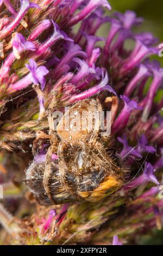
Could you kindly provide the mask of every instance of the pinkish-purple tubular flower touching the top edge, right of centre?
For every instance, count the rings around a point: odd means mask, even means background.
[[[79,21],[85,19],[87,16],[89,16],[92,13],[92,11],[94,11],[100,6],[103,6],[111,10],[110,4],[108,3],[107,0],[90,0],[90,2],[86,5],[86,7],[84,7],[82,11],[80,11],[80,13],[72,17],[72,19],[70,20],[70,25],[73,26]]]

